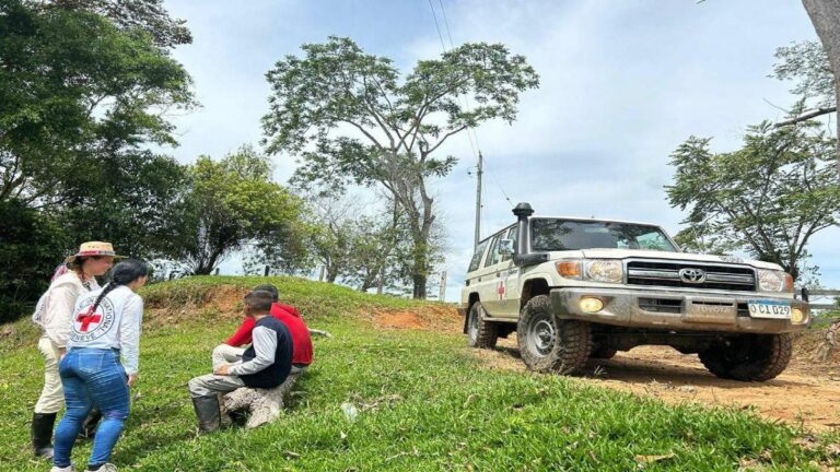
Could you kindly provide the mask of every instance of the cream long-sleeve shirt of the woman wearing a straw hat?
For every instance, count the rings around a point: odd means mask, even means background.
[[[95,279],[82,283],[75,272],[68,272],[49,285],[49,294],[44,310],[44,334],[58,347],[67,346],[70,334],[70,320],[73,318],[75,300],[80,295],[100,288]],[[90,288],[89,288],[90,287]]]

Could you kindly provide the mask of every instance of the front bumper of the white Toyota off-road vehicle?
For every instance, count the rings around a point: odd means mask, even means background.
[[[585,312],[580,308],[582,297],[599,298],[604,308],[596,312]],[[805,312],[805,322],[794,324],[789,319],[752,318],[746,309],[747,302],[757,298],[790,303],[792,308],[800,308]],[[810,323],[810,310],[805,302],[748,293],[552,288],[551,307],[561,318],[677,331],[783,333],[801,331]]]

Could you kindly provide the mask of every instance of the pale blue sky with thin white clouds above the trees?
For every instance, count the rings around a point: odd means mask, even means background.
[[[540,87],[522,96],[518,119],[476,130],[485,156],[482,237],[511,224],[512,204],[537,214],[656,223],[676,234],[669,154],[690,135],[711,137],[715,152],[739,146],[747,126],[778,120],[793,103],[790,83],[767,75],[777,47],[817,38],[798,1],[743,0],[170,0],[194,43],[174,57],[195,80],[201,108],[174,119],[188,163],[258,145],[268,109],[265,73],[305,43],[348,36],[401,71],[455,45],[502,43],[524,55]],[[442,11],[443,10],[443,11]],[[446,299],[457,300],[472,251],[476,158],[466,134],[441,149],[459,158],[435,180],[448,252]],[[276,155],[276,179],[294,157]],[[509,202],[510,199],[510,202]],[[813,237],[820,281],[840,287],[840,228]],[[222,273],[241,273],[231,258]]]

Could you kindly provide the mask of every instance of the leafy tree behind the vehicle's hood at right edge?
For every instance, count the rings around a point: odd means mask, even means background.
[[[711,252],[746,250],[801,274],[807,244],[840,219],[835,139],[817,123],[751,127],[742,149],[712,153],[691,137],[672,154],[672,205],[688,210],[678,240]]]

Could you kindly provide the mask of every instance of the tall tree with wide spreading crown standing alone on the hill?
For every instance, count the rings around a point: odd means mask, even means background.
[[[302,49],[267,74],[268,150],[300,157],[298,180],[384,188],[408,216],[413,296],[424,298],[436,217],[429,180],[456,164],[439,150],[485,121],[512,122],[520,94],[536,87],[538,76],[524,57],[483,43],[421,60],[405,76],[390,59],[365,54],[348,38]]]

